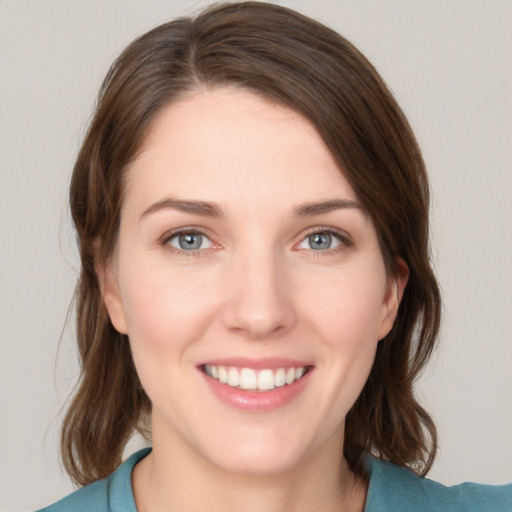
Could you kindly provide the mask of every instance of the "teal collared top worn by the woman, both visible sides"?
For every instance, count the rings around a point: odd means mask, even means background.
[[[132,469],[150,448],[132,455],[108,478],[78,489],[39,512],[137,512]],[[364,512],[512,512],[512,483],[464,483],[445,487],[403,468],[368,456],[370,486]]]

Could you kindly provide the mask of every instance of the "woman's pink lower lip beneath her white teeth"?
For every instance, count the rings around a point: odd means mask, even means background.
[[[202,371],[201,373],[217,398],[230,407],[246,412],[271,412],[285,406],[296,398],[307,386],[313,370],[310,369],[293,384],[287,384],[270,391],[250,391],[233,388],[209,377]]]

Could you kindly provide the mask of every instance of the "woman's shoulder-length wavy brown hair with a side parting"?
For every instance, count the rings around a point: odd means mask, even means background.
[[[354,46],[316,21],[260,2],[216,6],[151,30],[125,49],[101,87],[70,189],[82,262],[76,291],[82,372],[62,430],[66,470],[80,484],[112,472],[151,411],[95,271],[116,241],[124,170],[162,106],[198,86],[223,84],[308,118],[370,215],[388,273],[399,271],[398,257],[408,265],[395,325],[346,418],[344,453],[359,474],[365,452],[426,473],[436,430],[413,384],[433,350],[441,303],[420,150],[385,83]]]

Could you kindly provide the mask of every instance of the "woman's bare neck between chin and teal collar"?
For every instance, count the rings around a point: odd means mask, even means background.
[[[348,468],[339,437],[288,470],[240,474],[155,434],[152,453],[132,476],[139,512],[363,511],[367,485]]]

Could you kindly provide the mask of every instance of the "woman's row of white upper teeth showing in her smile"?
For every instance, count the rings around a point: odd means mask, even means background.
[[[293,384],[306,373],[305,366],[298,368],[264,369],[259,372],[252,368],[235,368],[226,366],[204,365],[206,375],[223,384],[251,391],[270,391]]]

